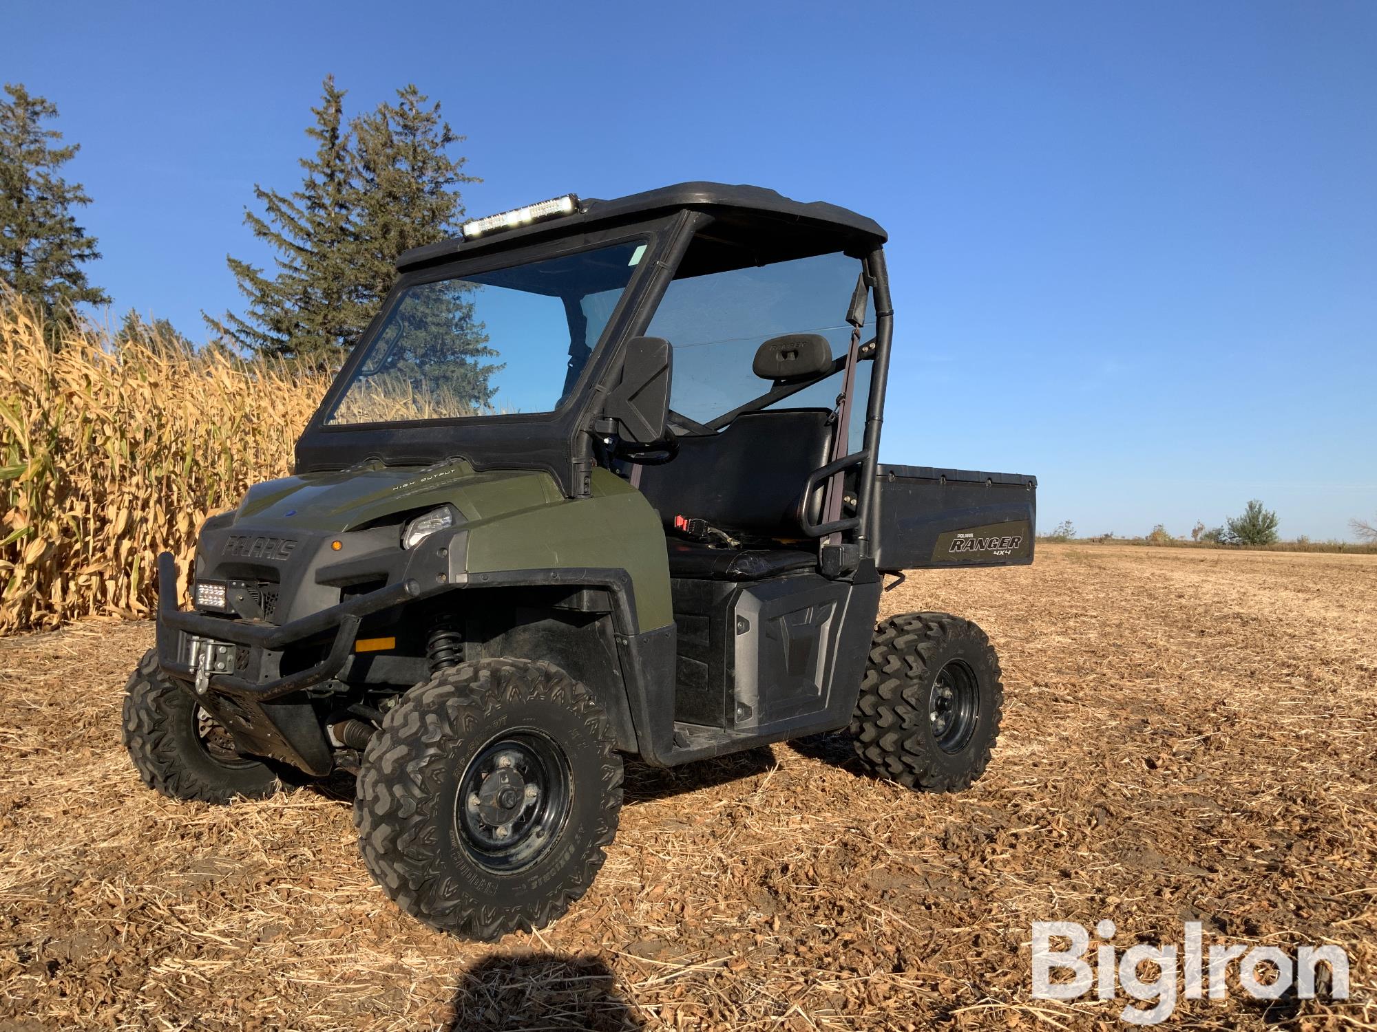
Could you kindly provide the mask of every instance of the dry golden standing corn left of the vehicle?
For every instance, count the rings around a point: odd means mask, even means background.
[[[288,472],[326,385],[91,326],[48,341],[30,304],[0,296],[0,634],[149,615],[164,549],[185,599],[197,528]]]

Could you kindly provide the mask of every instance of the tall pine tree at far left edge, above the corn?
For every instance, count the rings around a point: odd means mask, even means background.
[[[80,183],[58,171],[80,144],[56,146],[62,133],[43,122],[56,105],[22,84],[6,84],[0,100],[0,279],[65,323],[76,304],[109,304],[81,264],[101,257],[96,238],[77,226],[73,208],[91,204]]]

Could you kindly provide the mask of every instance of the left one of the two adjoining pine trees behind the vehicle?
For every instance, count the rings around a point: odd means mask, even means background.
[[[291,195],[255,184],[263,215],[245,209],[253,235],[275,252],[269,274],[241,259],[227,264],[248,299],[245,315],[205,315],[222,340],[241,348],[300,359],[314,367],[337,366],[362,333],[376,305],[357,283],[355,215],[359,206],[344,91],[335,77],[322,83],[315,122],[306,135],[315,154],[300,160],[306,172]],[[204,315],[204,314],[202,314]]]

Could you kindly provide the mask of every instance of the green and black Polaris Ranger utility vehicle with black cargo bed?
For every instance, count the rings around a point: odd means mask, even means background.
[[[684,183],[545,201],[409,250],[296,444],[158,559],[124,740],[185,799],[357,772],[364,860],[494,938],[589,886],[622,757],[848,728],[913,788],[978,777],[974,623],[876,626],[887,575],[1033,560],[1031,476],[877,461],[885,233]],[[291,773],[288,773],[291,772]]]

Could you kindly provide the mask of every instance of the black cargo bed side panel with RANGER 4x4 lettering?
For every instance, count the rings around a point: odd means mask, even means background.
[[[877,568],[1033,561],[1037,477],[895,465],[880,465],[876,472]]]

